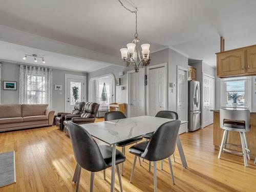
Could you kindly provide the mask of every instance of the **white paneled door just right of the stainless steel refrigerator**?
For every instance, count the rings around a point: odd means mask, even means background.
[[[215,108],[215,78],[203,75],[203,127],[214,123],[214,114],[210,109]]]

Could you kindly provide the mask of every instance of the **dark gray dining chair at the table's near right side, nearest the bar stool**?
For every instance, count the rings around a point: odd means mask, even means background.
[[[154,191],[157,191],[157,161],[168,158],[170,174],[172,182],[174,182],[174,174],[172,168],[172,161],[170,156],[174,154],[176,147],[176,140],[180,129],[180,120],[169,121],[158,127],[157,131],[152,135],[148,141],[140,142],[129,148],[129,152],[134,156],[133,169],[130,182],[133,180],[134,169],[137,157],[141,157],[148,161],[154,162]]]

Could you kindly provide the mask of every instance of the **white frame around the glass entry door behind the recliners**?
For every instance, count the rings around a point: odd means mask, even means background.
[[[87,100],[87,76],[82,76],[82,75],[72,75],[72,74],[65,74],[65,89],[64,89],[64,102],[65,102],[65,112],[68,112],[68,103],[67,103],[67,91],[68,91],[68,79],[81,79],[84,80],[84,85],[83,85],[83,95],[84,95],[84,99],[83,101]]]

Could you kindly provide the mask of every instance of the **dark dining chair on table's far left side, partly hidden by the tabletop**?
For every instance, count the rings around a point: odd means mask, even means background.
[[[125,119],[125,118],[126,118],[126,116],[120,111],[107,112],[107,113],[105,113],[105,116],[104,116],[105,121]],[[138,141],[141,141],[141,140],[142,140],[142,137],[136,137],[136,138],[133,138],[133,139],[129,139],[129,140],[117,143],[116,146],[122,147],[122,153],[123,153],[123,155],[125,155],[125,146],[137,143]],[[139,162],[140,162],[140,159],[139,159]],[[140,165],[141,165],[141,162],[140,162]],[[123,166],[124,165],[122,163],[121,175],[123,175]]]

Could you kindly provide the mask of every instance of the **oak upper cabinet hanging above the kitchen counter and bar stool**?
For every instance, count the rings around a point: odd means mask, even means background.
[[[256,75],[256,45],[217,53],[217,76]]]

